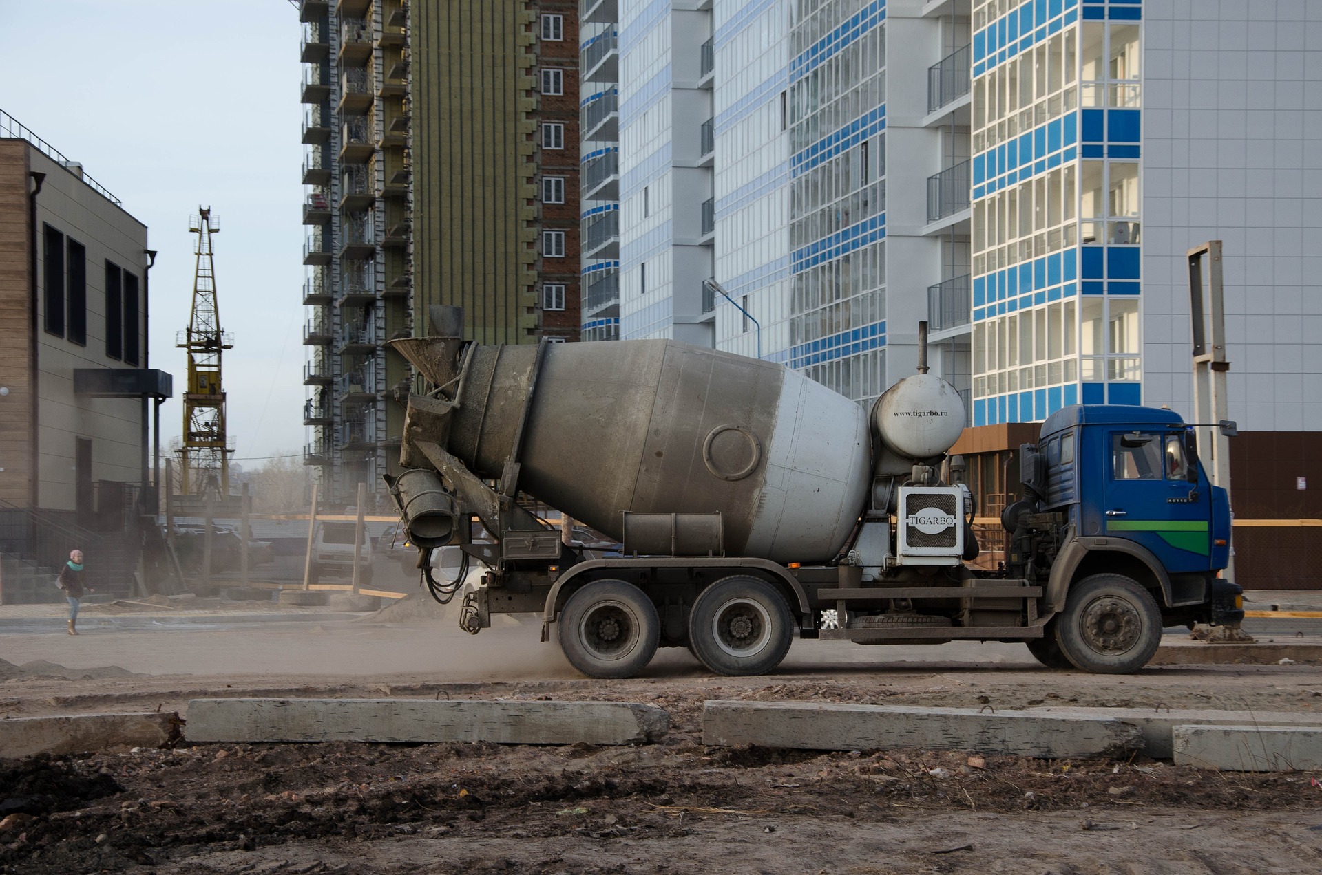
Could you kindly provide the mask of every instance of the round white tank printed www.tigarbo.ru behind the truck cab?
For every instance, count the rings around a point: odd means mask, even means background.
[[[912,374],[886,390],[873,406],[873,427],[899,455],[925,460],[954,445],[964,431],[964,399],[933,374]]]

